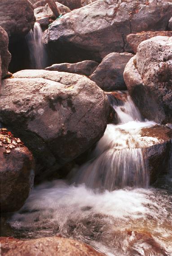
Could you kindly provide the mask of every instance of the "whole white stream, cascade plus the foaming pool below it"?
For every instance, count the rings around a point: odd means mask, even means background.
[[[108,95],[119,124],[107,126],[66,180],[33,189],[8,221],[14,236],[70,237],[107,256],[172,255],[172,172],[149,186],[139,133],[155,123],[142,121],[128,93],[120,95]]]

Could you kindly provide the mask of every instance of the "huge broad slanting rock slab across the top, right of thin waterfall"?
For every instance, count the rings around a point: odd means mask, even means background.
[[[168,0],[97,0],[55,21],[44,40],[52,63],[100,62],[110,52],[127,51],[130,33],[165,30],[171,13]]]

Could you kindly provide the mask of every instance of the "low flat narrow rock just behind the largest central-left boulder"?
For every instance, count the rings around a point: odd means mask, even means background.
[[[91,74],[93,74],[97,66],[98,63],[96,61],[81,61],[73,64],[53,64],[52,66],[45,68],[45,70],[69,72],[74,74],[84,74],[86,76],[90,76]]]

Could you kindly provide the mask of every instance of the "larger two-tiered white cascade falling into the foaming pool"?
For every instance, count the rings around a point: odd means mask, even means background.
[[[142,155],[143,143],[137,137],[150,122],[141,122],[128,92],[116,91],[107,96],[120,124],[107,125],[90,160],[79,168],[72,182],[109,191],[126,186],[147,187],[149,177]]]

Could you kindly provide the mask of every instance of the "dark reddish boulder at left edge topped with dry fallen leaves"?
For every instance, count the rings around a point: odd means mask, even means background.
[[[34,180],[31,152],[6,129],[0,129],[0,211],[12,212],[24,205]]]

